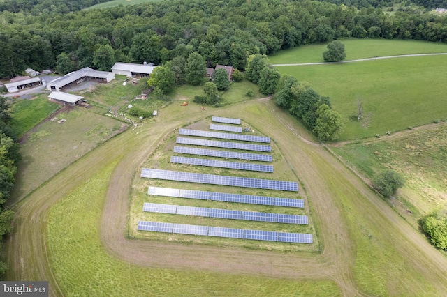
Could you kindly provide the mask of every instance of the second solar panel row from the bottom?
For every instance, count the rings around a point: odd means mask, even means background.
[[[235,211],[219,208],[176,206],[170,204],[145,203],[142,211],[149,213],[171,213],[197,217],[248,220],[258,222],[280,222],[284,224],[308,224],[307,215],[286,215],[284,213],[259,213],[257,211]]]

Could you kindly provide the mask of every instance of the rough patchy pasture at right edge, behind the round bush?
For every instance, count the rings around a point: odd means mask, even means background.
[[[371,178],[374,172],[391,168],[405,178],[390,204],[417,228],[417,220],[447,200],[447,124],[431,124],[332,148],[360,174]]]

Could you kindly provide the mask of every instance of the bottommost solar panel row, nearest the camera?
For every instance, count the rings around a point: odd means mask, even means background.
[[[193,224],[171,224],[163,222],[138,221],[137,230],[175,234],[244,238],[256,241],[280,241],[284,243],[313,243],[312,234],[287,233],[249,229],[207,227]]]

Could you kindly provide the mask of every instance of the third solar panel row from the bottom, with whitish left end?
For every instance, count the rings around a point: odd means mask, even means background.
[[[299,207],[299,208],[305,207],[305,202],[302,199],[240,195],[240,194],[207,192],[197,190],[179,190],[172,188],[149,187],[149,190],[147,190],[147,194],[156,196],[165,196],[165,197],[203,199],[203,200],[226,201],[226,202],[248,203],[248,204],[261,204],[261,205]]]

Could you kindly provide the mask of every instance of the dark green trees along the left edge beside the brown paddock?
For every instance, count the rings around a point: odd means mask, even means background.
[[[19,144],[15,142],[11,118],[5,98],[0,96],[0,243],[8,234],[13,220],[13,211],[6,210],[5,203],[13,190],[17,164],[21,159]],[[1,253],[1,245],[0,245]],[[0,261],[0,277],[6,272],[7,266]]]

